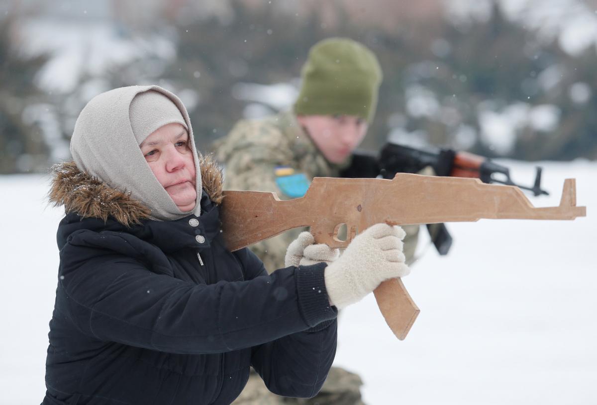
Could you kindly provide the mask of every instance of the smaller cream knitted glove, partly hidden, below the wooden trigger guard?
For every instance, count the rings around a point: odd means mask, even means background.
[[[301,232],[297,239],[293,240],[286,251],[284,265],[298,266],[310,265],[316,263],[330,264],[340,256],[338,249],[332,249],[325,243],[314,245],[315,239],[309,232]]]

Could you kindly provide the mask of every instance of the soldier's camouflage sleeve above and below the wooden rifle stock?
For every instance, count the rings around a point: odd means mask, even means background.
[[[280,199],[288,199],[276,185],[275,169],[293,167],[293,153],[275,126],[242,121],[232,129],[217,153],[224,163],[224,189],[273,191]],[[263,261],[267,272],[272,273],[285,267],[286,249],[301,231],[287,231],[250,249]]]

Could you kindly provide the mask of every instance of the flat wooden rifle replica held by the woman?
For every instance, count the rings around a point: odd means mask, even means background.
[[[280,200],[275,193],[263,191],[224,191],[220,212],[230,251],[307,226],[315,243],[346,248],[359,231],[380,222],[408,225],[586,216],[586,208],[576,206],[575,179],[564,181],[559,206],[535,208],[515,186],[405,173],[396,174],[393,180],[316,177],[307,193],[293,200]],[[346,240],[338,239],[343,224]],[[392,332],[404,339],[419,309],[401,280],[386,280],[374,295]]]

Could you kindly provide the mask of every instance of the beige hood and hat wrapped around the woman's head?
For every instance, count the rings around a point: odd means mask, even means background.
[[[195,160],[197,200],[190,212],[181,212],[176,206],[139,147],[153,131],[172,122],[189,132]],[[201,169],[189,114],[182,101],[164,88],[121,87],[92,98],[76,120],[70,153],[79,170],[130,193],[152,210],[152,219],[170,221],[201,215]]]

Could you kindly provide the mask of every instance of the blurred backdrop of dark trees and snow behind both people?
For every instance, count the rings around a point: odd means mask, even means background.
[[[521,160],[597,158],[595,0],[4,0],[0,173],[69,157],[117,86],[180,95],[209,150],[294,101],[309,47],[349,36],[384,72],[363,149],[388,137]]]

